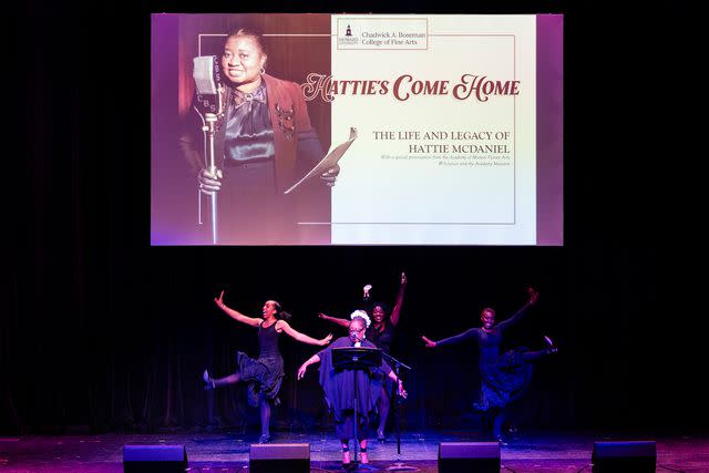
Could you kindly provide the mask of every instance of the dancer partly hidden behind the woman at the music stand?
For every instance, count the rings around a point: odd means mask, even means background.
[[[407,275],[401,274],[401,284],[399,286],[399,292],[397,294],[397,302],[391,316],[387,315],[387,306],[383,302],[373,302],[369,305],[369,313],[372,316],[373,323],[367,327],[367,340],[371,341],[381,348],[381,350],[389,354],[391,351],[391,345],[394,340],[395,327],[399,323],[401,317],[401,306],[403,305],[403,292],[407,288]],[[364,301],[369,302],[369,290],[371,286],[364,286]],[[347,319],[338,319],[335,317],[320,313],[319,317],[325,320],[329,320],[342,327],[349,327],[350,321]],[[389,417],[389,410],[391,405],[391,394],[393,393],[394,385],[384,380],[384,389],[381,390],[379,400],[377,401],[377,410],[379,412],[379,426],[377,428],[377,439],[380,442],[384,441],[384,428],[387,425],[387,418]]]

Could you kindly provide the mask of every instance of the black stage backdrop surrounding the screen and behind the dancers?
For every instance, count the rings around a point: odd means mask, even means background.
[[[513,411],[521,428],[706,431],[698,9],[485,3],[435,11],[566,14],[564,247],[152,248],[148,13],[194,10],[14,7],[22,88],[7,110],[21,113],[6,136],[16,151],[6,155],[14,192],[6,200],[0,433],[255,428],[244,388],[215,394],[217,420],[202,390],[204,368],[226,373],[234,350],[256,354],[255,330],[216,309],[218,291],[247,315],[274,298],[297,329],[342,335],[317,312],[347,316],[364,284],[393,305],[401,271],[409,287],[393,352],[415,369],[405,428],[474,422],[476,347],[427,351],[420,336],[479,326],[484,306],[505,318],[534,286],[540,304],[510,345],[536,348],[549,335],[559,353],[536,363]],[[281,342],[280,426],[327,423],[316,370],[294,381],[315,349]]]

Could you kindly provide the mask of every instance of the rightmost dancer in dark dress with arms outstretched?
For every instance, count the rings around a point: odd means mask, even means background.
[[[480,347],[480,401],[475,403],[479,411],[490,413],[493,418],[493,435],[502,439],[502,423],[504,422],[505,408],[517,399],[530,383],[532,377],[532,361],[545,354],[555,353],[556,347],[548,337],[544,337],[547,347],[540,351],[528,351],[518,347],[500,354],[500,346],[506,329],[527,312],[530,307],[536,304],[538,292],[528,288],[530,301],[525,304],[507,320],[495,325],[495,311],[489,307],[481,313],[483,326],[472,328],[463,333],[443,340],[433,341],[421,337],[427,348],[442,347],[458,343],[464,340],[476,340]]]

